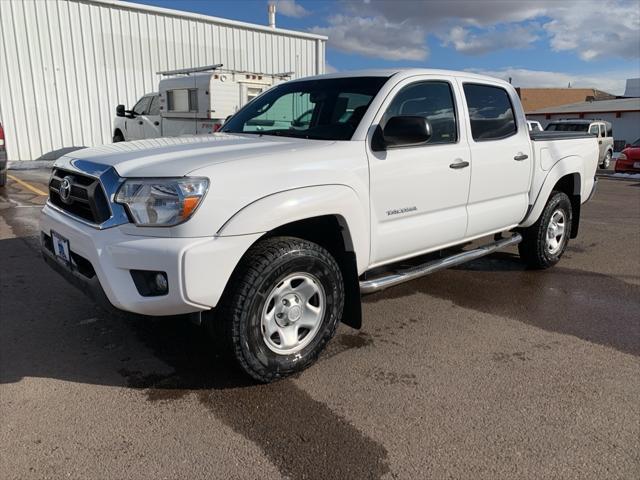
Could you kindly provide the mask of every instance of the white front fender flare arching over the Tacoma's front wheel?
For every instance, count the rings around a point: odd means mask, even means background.
[[[368,201],[362,201],[351,187],[342,184],[314,185],[273,193],[254,200],[234,213],[216,236],[266,233],[283,225],[313,217],[335,215],[348,230],[356,256],[358,274],[369,263]]]

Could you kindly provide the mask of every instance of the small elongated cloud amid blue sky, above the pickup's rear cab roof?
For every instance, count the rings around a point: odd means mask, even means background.
[[[538,36],[523,26],[512,26],[502,30],[491,29],[486,33],[472,33],[464,27],[453,27],[441,36],[444,45],[468,55],[482,55],[505,48],[528,48]]]

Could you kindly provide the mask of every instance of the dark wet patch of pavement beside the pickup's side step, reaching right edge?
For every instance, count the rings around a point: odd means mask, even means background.
[[[376,303],[424,293],[640,356],[640,287],[615,277],[565,268],[525,271],[498,253],[366,297]]]

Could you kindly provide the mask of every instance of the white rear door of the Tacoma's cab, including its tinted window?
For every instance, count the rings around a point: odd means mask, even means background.
[[[529,205],[532,152],[529,129],[513,89],[458,80],[464,92],[471,148],[466,237],[517,225]]]

